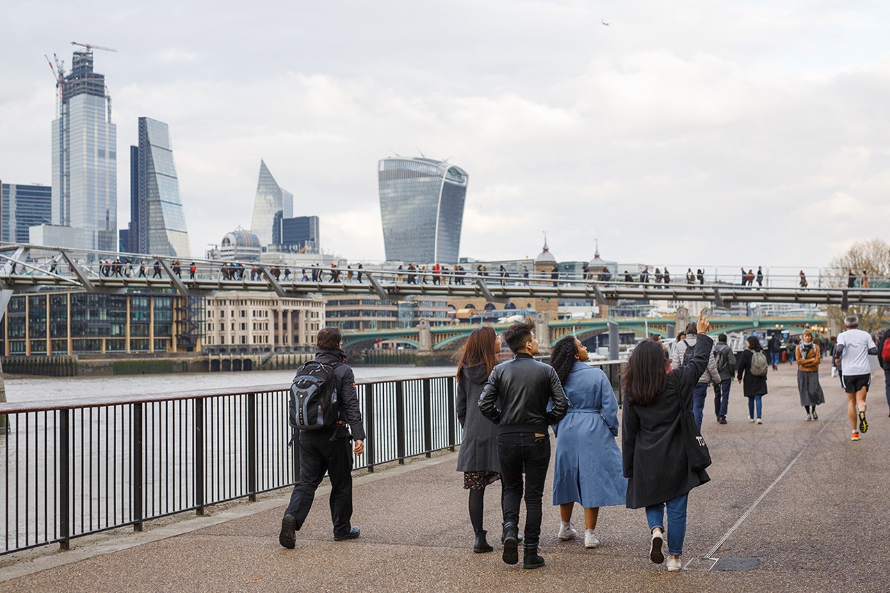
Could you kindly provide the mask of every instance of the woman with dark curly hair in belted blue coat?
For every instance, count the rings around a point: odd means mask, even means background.
[[[627,479],[621,474],[618,436],[618,402],[605,373],[588,366],[587,347],[573,336],[554,345],[550,364],[562,381],[569,412],[554,425],[554,505],[559,505],[562,524],[557,537],[571,540],[571,511],[578,502],[584,508],[584,545],[596,548],[596,519],[600,507],[623,505]]]

